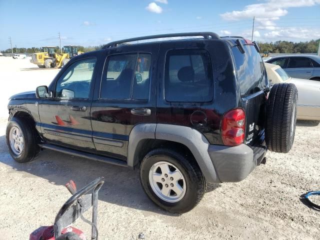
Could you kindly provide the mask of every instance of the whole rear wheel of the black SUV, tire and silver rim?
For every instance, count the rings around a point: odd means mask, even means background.
[[[140,164],[140,182],[148,197],[170,212],[191,210],[202,198],[206,181],[193,157],[154,149]]]

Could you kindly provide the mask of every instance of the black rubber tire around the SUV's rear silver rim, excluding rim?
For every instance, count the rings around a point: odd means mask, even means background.
[[[184,177],[185,193],[176,202],[161,199],[150,185],[149,171],[152,165],[159,161],[173,164]],[[140,164],[140,182],[144,192],[155,204],[174,213],[191,210],[201,200],[206,189],[206,180],[193,156],[186,156],[166,148],[154,149],[144,156]],[[163,184],[162,187],[164,187]]]

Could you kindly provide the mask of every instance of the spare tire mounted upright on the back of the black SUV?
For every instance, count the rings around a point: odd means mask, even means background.
[[[288,152],[294,141],[298,91],[292,83],[274,84],[267,101],[266,145],[270,151]]]

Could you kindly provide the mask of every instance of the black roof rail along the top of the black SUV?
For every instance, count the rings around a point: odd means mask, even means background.
[[[169,34],[158,34],[158,35],[150,35],[150,36],[139,36],[133,38],[127,38],[118,41],[112,41],[105,44],[102,49],[115,47],[120,43],[130,42],[130,41],[138,41],[138,40],[147,40],[147,39],[155,39],[155,38],[163,38],[163,37],[176,37],[176,36],[203,36],[204,39],[219,39],[219,35],[214,32],[204,31],[204,32],[182,32],[182,33],[169,33]]]

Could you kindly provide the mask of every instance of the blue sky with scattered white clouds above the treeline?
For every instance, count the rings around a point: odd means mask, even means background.
[[[98,45],[121,38],[214,31],[259,41],[320,38],[320,0],[0,0],[0,49]]]

